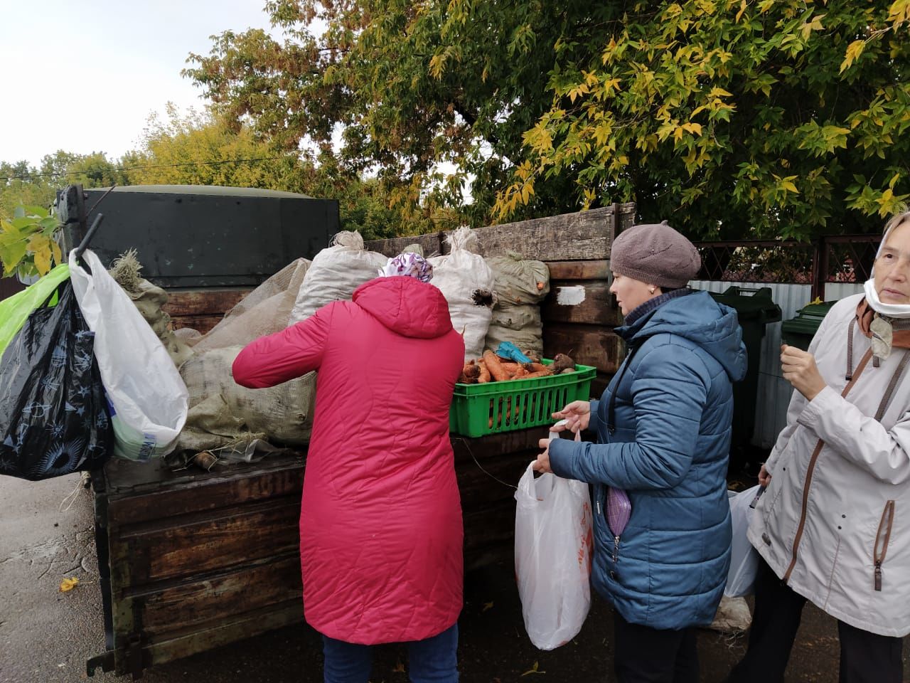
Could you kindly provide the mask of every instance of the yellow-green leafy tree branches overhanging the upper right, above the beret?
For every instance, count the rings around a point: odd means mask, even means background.
[[[910,196],[910,2],[638,2],[550,70],[501,216],[550,178],[691,235],[877,231]]]

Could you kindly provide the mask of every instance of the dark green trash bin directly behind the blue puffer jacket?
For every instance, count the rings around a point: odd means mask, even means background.
[[[781,307],[771,300],[771,288],[728,287],[723,293],[711,292],[714,301],[734,311],[743,329],[743,342],[749,362],[742,382],[733,384],[733,439],[730,443],[731,465],[744,464],[744,453],[755,431],[758,400],[758,368],[762,360],[764,328],[781,320]]]

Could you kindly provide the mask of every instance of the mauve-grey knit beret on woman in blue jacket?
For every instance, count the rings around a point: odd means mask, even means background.
[[[610,270],[647,284],[684,287],[702,268],[695,245],[667,225],[636,225],[613,240]]]

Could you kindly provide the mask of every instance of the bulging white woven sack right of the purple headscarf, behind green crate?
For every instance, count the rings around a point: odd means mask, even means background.
[[[492,312],[474,303],[475,291],[493,290],[493,271],[476,253],[477,235],[470,228],[459,228],[446,238],[451,252],[430,261],[433,279],[442,296],[449,302],[452,327],[464,338],[465,360],[480,358],[490,327]]]

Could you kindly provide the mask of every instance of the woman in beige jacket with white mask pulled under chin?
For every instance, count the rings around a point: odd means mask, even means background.
[[[910,633],[910,212],[885,227],[865,294],[838,301],[808,352],[759,483],[763,562],[731,683],[784,680],[805,600],[838,620],[840,678],[900,683]]]

